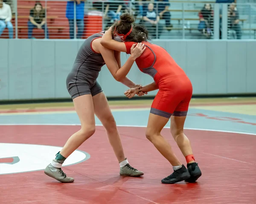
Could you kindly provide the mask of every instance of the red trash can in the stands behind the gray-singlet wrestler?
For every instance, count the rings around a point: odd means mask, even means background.
[[[89,37],[95,33],[102,31],[102,20],[103,13],[102,11],[90,11],[87,15],[84,16],[84,37]]]

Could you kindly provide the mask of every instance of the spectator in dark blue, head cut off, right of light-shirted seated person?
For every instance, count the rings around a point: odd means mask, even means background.
[[[171,14],[169,11],[169,0],[154,0],[155,2],[158,2],[158,15],[160,16],[160,19],[164,19],[166,22],[166,29],[171,30],[172,24],[171,24]],[[157,3],[155,3],[155,8],[157,8]]]

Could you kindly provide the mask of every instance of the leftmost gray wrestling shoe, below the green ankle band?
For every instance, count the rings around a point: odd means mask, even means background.
[[[61,161],[57,161],[56,159],[53,159],[53,161],[58,162],[58,163],[61,162]],[[55,178],[57,181],[60,181],[62,183],[72,183],[74,181],[74,178],[67,177],[67,175],[61,170],[61,168],[54,167],[54,166],[52,166],[52,164],[49,164],[45,168],[44,173],[47,176]]]

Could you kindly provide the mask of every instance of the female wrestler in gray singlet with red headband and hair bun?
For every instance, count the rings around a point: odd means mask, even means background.
[[[120,19],[113,25],[116,27],[116,40],[129,38],[129,36],[134,38],[136,35],[138,42],[142,42],[143,35],[140,36],[136,31],[132,31],[131,23],[134,22],[134,18],[130,14],[123,14]],[[119,34],[121,35],[118,36]],[[95,132],[94,114],[106,129],[109,142],[120,164],[120,175],[142,176],[144,174],[131,167],[125,158],[116,122],[106,96],[96,79],[102,66],[106,64],[117,81],[129,88],[139,88],[140,85],[134,84],[125,76],[145,48],[142,43],[134,45],[131,49],[131,56],[121,67],[120,52],[104,48],[100,43],[102,35],[103,33],[94,34],[84,41],[77,54],[73,69],[67,77],[67,90],[73,99],[76,113],[81,121],[81,130],[68,139],[62,150],[56,154],[56,158],[44,170],[45,174],[63,183],[74,181],[73,178],[67,177],[61,167],[65,159]],[[143,94],[141,93],[141,95]]]

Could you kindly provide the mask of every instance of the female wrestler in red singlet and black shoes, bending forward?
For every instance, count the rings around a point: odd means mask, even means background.
[[[151,106],[148,119],[146,137],[154,144],[157,150],[172,164],[174,172],[162,179],[162,183],[176,183],[179,181],[195,182],[201,176],[201,170],[195,163],[189,139],[183,133],[183,127],[192,97],[192,84],[183,69],[177,65],[170,54],[162,47],[146,42],[148,31],[144,26],[134,26],[138,34],[145,34],[146,46],[143,54],[135,62],[138,68],[145,74],[154,78],[154,82],[145,85],[140,91],[147,93],[159,89]],[[114,37],[115,40],[112,40]],[[119,37],[122,42],[117,42]],[[131,46],[135,43],[125,39],[111,27],[102,37],[101,44],[109,49],[131,54]],[[134,40],[135,41],[135,40]],[[125,92],[128,98],[138,93],[133,88]],[[177,142],[181,152],[186,158],[187,168],[173,153],[169,143],[161,136],[160,132],[171,118],[171,133]]]

